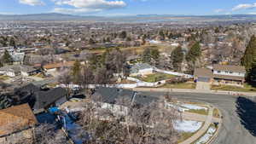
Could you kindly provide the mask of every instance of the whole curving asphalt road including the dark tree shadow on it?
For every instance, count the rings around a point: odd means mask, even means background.
[[[154,91],[141,93],[142,95],[151,96],[160,96],[166,94],[166,92]],[[236,96],[232,95],[177,92],[172,92],[171,95],[180,100],[203,101],[218,107],[224,116],[224,122],[218,137],[212,142],[212,144],[256,144],[256,137],[253,136],[256,133],[256,105],[250,100],[250,98],[246,98],[246,103],[244,103],[244,101],[239,102],[240,99],[237,99]],[[237,104],[239,104],[239,107],[236,107]],[[238,112],[241,113],[238,114]]]

